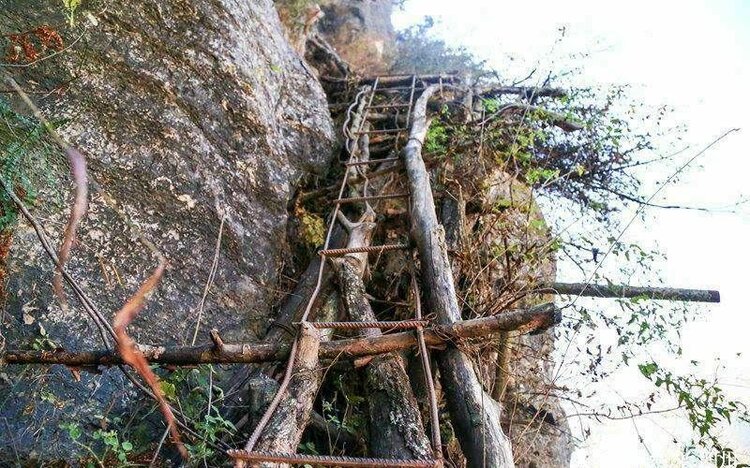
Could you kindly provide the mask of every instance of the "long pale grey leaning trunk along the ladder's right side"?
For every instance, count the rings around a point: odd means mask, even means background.
[[[427,102],[438,88],[428,87],[417,100],[403,157],[411,192],[411,229],[419,249],[427,303],[440,323],[450,324],[461,320],[461,310],[445,231],[437,221],[430,177],[421,155],[428,127]],[[451,347],[438,355],[438,364],[456,435],[470,465],[514,466],[510,441],[500,426],[500,406],[482,388],[471,360]]]

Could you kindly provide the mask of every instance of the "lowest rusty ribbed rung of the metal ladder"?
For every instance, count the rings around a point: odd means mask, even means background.
[[[393,458],[336,457],[330,455],[307,455],[299,453],[252,452],[248,450],[227,450],[227,455],[235,460],[249,462],[296,463],[323,466],[354,467],[396,467],[431,468],[434,460],[399,460]]]

